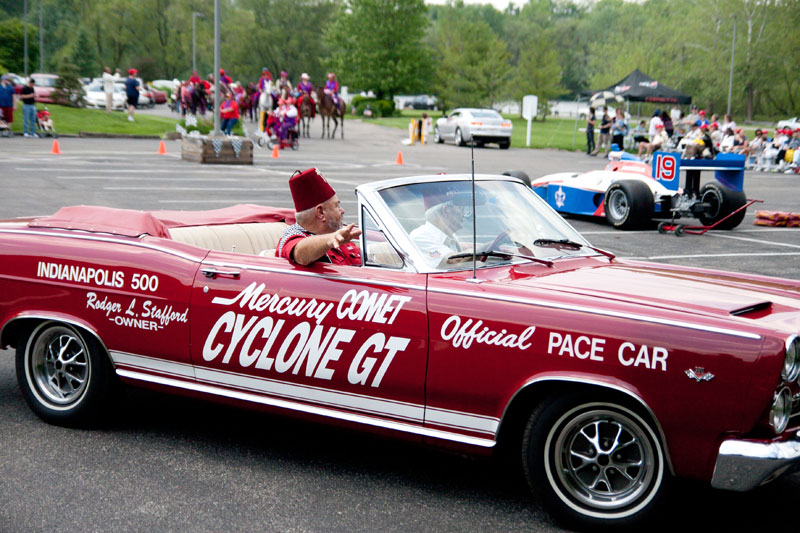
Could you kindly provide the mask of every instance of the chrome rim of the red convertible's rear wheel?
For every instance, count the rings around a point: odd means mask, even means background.
[[[26,371],[34,394],[51,408],[81,400],[91,376],[89,352],[73,330],[54,326],[36,338],[28,352]]]

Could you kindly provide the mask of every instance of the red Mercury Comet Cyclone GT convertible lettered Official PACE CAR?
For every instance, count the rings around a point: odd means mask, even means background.
[[[577,527],[795,470],[799,282],[617,259],[512,177],[356,195],[360,267],[275,257],[292,213],[259,206],[0,223],[25,400],[85,425],[122,381],[509,451]]]

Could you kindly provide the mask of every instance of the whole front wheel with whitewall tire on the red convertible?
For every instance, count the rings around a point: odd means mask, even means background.
[[[525,429],[522,462],[534,495],[565,525],[630,527],[655,513],[671,481],[655,425],[624,401],[553,398]]]

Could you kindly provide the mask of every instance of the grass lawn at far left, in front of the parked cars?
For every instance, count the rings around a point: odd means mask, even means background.
[[[36,109],[41,110],[43,104],[36,104]],[[128,113],[114,111],[107,115],[104,109],[79,109],[55,104],[48,104],[50,118],[59,134],[78,134],[80,132],[110,133],[127,135],[158,135],[175,131],[175,118],[156,117],[136,113],[135,122],[128,121]],[[22,103],[17,104],[14,110],[14,123],[12,131],[22,134]]]

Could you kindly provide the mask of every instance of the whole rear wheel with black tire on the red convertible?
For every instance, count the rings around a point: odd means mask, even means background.
[[[61,322],[42,322],[22,336],[17,383],[31,410],[50,424],[86,427],[99,421],[115,380],[105,349]]]

